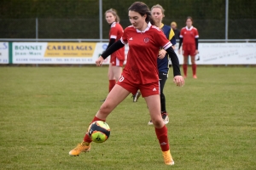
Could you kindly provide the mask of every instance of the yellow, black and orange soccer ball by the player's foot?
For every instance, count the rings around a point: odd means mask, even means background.
[[[108,126],[107,122],[92,122],[88,128],[88,134],[93,142],[102,143],[109,138],[110,127]]]

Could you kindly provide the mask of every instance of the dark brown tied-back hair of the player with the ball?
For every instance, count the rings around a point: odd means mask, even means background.
[[[138,14],[141,14],[142,16],[144,14],[147,14],[147,17],[146,17],[146,22],[150,22],[152,25],[155,25],[154,24],[154,20],[152,19],[152,16],[151,16],[151,12],[148,8],[148,5],[146,5],[145,3],[142,3],[142,2],[135,2],[135,3],[132,3],[131,4],[131,7],[128,8],[129,11],[135,11],[137,12]]]

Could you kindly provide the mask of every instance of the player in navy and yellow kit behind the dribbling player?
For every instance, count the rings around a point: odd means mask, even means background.
[[[159,27],[164,32],[166,38],[172,42],[172,48],[174,49],[176,44],[176,38],[174,36],[174,31],[172,30],[171,26],[166,26],[162,23],[162,20],[165,17],[164,13],[165,9],[160,4],[156,4],[151,8],[151,14],[154,19],[155,26]],[[164,87],[169,72],[169,56],[168,54],[166,54],[166,51],[164,49],[160,50],[160,54],[164,55],[163,59],[157,59],[160,81],[161,116],[165,124],[167,124],[169,122],[169,117],[166,111],[166,97],[164,94]],[[153,122],[149,121],[148,125],[153,125]]]

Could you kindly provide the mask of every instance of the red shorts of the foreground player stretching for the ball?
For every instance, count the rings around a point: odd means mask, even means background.
[[[129,77],[129,75],[126,75]],[[159,82],[152,82],[148,84],[136,84],[125,78],[125,75],[122,75],[117,82],[119,86],[125,88],[131,94],[136,94],[139,89],[143,97],[148,97],[155,94],[160,94]]]

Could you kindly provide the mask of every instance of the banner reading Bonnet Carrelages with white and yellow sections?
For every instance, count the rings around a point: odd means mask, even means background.
[[[13,42],[14,64],[95,64],[108,43]]]

